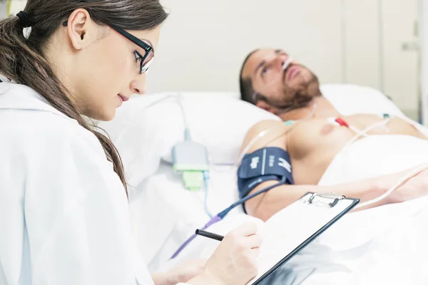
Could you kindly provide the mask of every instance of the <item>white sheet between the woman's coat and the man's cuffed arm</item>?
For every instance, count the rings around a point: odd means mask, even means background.
[[[236,168],[215,166],[210,169],[208,207],[217,214],[238,199]],[[168,162],[140,185],[131,188],[130,209],[133,231],[144,259],[156,271],[185,239],[208,220],[203,207],[205,190],[192,192],[183,187],[180,175]],[[228,217],[258,220],[235,208]],[[238,222],[238,224],[239,224]]]

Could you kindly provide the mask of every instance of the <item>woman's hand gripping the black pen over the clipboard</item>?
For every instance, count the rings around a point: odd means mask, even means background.
[[[255,223],[243,224],[226,234],[202,274],[189,284],[245,285],[258,274],[256,259],[262,239]]]

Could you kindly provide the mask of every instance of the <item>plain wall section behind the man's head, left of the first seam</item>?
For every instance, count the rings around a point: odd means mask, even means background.
[[[163,0],[171,10],[148,91],[237,91],[253,48],[285,48],[325,82],[341,81],[341,0]],[[292,8],[292,9],[290,9]]]

